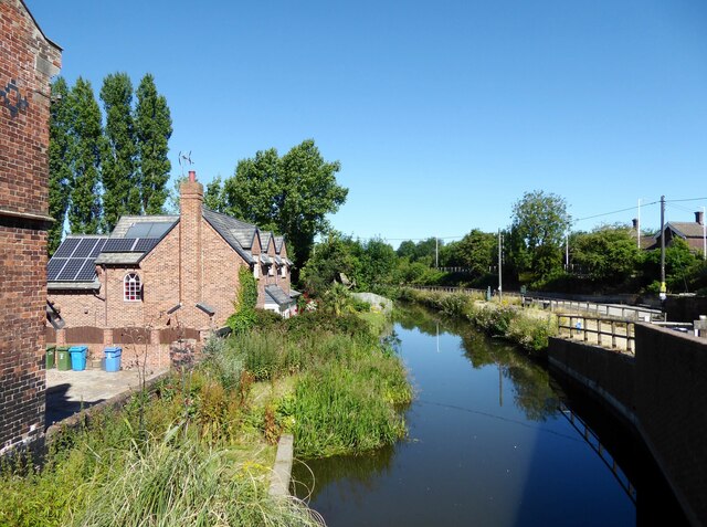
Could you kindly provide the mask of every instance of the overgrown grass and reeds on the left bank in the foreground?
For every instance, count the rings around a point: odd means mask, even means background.
[[[41,467],[6,463],[0,525],[319,525],[267,494],[277,439],[300,456],[360,453],[405,434],[405,370],[356,313],[319,309],[213,338],[122,410],[54,438]],[[380,315],[382,316],[382,315]]]

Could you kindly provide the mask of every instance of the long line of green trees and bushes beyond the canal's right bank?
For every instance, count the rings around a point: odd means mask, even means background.
[[[571,225],[563,198],[531,191],[514,204],[510,224],[500,233],[472,229],[460,241],[431,236],[393,250],[381,239],[331,232],[304,267],[303,286],[321,295],[344,274],[349,286],[361,289],[403,284],[497,288],[500,243],[506,289],[526,285],[534,291],[657,294],[661,252],[640,249],[635,229],[612,224],[570,232]],[[666,283],[676,293],[707,288],[701,254],[680,239],[666,249]]]

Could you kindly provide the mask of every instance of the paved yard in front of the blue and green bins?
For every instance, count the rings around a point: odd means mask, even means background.
[[[147,370],[151,379],[163,370]],[[82,408],[93,407],[126,390],[138,388],[140,377],[137,370],[116,372],[99,369],[84,371],[46,370],[46,412],[45,426],[62,421]]]

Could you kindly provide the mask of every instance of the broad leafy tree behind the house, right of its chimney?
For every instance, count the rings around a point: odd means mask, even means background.
[[[348,189],[337,185],[338,161],[325,161],[314,139],[293,147],[258,151],[239,161],[224,182],[229,213],[284,234],[298,266],[309,257],[314,238],[328,229],[326,215],[346,201]]]

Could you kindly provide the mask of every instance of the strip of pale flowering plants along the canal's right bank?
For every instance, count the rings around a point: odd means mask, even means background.
[[[466,319],[492,336],[507,338],[534,355],[544,355],[548,338],[557,334],[555,315],[521,308],[513,301],[484,301],[481,294],[400,291],[400,299],[415,302],[446,315]]]

